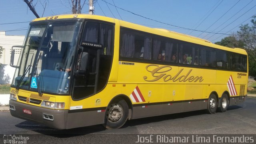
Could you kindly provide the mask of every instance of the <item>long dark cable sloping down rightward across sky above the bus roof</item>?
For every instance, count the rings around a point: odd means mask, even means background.
[[[106,2],[105,0],[102,0],[102,1],[103,1],[103,2]],[[108,2],[106,2],[106,3],[108,3]],[[110,4],[110,3],[108,3],[108,4]],[[110,5],[114,6],[113,4],[110,4]],[[116,6],[116,8],[119,8],[119,7],[118,7],[118,6]],[[119,9],[124,10],[123,8],[119,8]],[[140,14],[135,14],[134,12],[131,12],[131,11],[129,11],[129,10],[124,10],[124,11],[126,11],[126,12],[130,12],[130,13],[132,13],[132,14],[136,15],[136,16],[140,16],[140,17],[142,17],[142,18],[146,18],[146,19],[148,19],[148,20],[152,20],[152,21],[155,21],[155,22],[159,22],[159,23],[161,23],[161,24],[166,24],[166,25],[169,25],[169,26],[177,27],[177,28],[183,28],[183,29],[185,29],[185,30],[194,30],[194,29],[191,29],[191,28],[184,28],[184,27],[181,27],[181,26],[175,26],[175,25],[168,24],[168,23],[165,23],[165,22],[160,22],[160,21],[158,21],[158,20],[153,20],[152,18],[147,18],[147,17],[145,17],[145,16],[141,16]],[[204,32],[203,30],[194,30],[194,31]],[[222,33],[216,33],[216,32],[206,32],[206,33],[211,33],[211,34],[222,34]],[[232,35],[232,34],[226,34],[226,35]]]

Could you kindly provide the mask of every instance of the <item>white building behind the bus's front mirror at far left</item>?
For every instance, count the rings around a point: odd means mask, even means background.
[[[0,46],[4,48],[2,58],[0,58],[0,84],[10,84],[15,72],[15,68],[10,66],[10,57],[12,46],[23,44],[25,36],[6,35],[6,32],[0,32]],[[20,48],[15,48],[14,65],[18,62]]]

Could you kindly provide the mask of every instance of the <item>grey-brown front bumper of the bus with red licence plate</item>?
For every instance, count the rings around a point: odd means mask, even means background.
[[[10,108],[10,113],[14,117],[38,122],[51,128],[66,129],[68,110],[52,110],[16,102],[14,100],[10,100],[9,105],[10,107],[14,106],[15,108],[15,110]],[[23,109],[30,110],[31,114],[25,114]],[[53,116],[53,120],[45,119],[43,114]]]

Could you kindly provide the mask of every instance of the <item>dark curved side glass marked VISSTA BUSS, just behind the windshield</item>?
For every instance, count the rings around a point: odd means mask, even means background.
[[[86,22],[74,77],[73,99],[83,99],[102,90],[110,74],[113,58],[114,26]],[[82,51],[81,51],[82,50]]]

